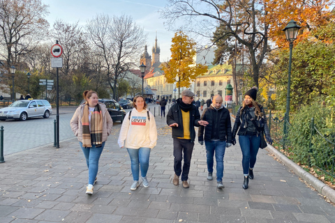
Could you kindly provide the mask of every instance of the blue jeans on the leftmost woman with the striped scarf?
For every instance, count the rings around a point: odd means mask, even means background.
[[[92,145],[92,147],[82,147],[82,142],[79,142],[80,148],[82,148],[82,152],[86,158],[87,168],[89,168],[89,184],[93,185],[94,180],[96,179],[96,175],[98,174],[99,167],[99,159],[101,153],[103,152],[103,147],[105,146],[105,141],[100,147],[96,147]]]

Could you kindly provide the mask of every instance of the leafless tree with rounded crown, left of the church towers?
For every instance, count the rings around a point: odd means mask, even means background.
[[[104,59],[107,82],[113,91],[113,98],[117,99],[117,81],[130,68],[137,66],[147,35],[126,15],[113,18],[96,15],[88,21],[87,32],[91,44],[98,47],[96,53]]]

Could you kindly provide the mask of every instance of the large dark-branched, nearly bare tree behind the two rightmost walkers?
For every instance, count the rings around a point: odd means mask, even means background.
[[[268,47],[266,8],[266,3],[261,4],[255,0],[169,0],[168,6],[163,10],[163,17],[168,19],[170,29],[174,29],[174,24],[180,17],[186,17],[187,23],[181,29],[209,38],[213,36],[209,33],[220,24],[221,38],[232,36],[248,49],[253,82],[258,86],[260,66]],[[221,38],[216,36],[216,40]]]

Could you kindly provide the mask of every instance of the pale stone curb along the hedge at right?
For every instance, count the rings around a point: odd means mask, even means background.
[[[235,118],[233,118],[232,116],[230,116],[230,118],[232,118],[232,120],[235,121]],[[309,185],[314,187],[315,190],[318,190],[320,194],[322,194],[323,196],[326,196],[330,201],[335,203],[335,190],[334,189],[332,189],[331,187],[323,183],[321,180],[319,180],[318,178],[315,178],[315,176],[313,176],[312,174],[302,169],[298,164],[296,164],[295,162],[290,160],[288,157],[283,155],[283,153],[277,151],[276,148],[274,148],[274,146],[267,144],[267,148],[265,149],[267,149],[269,153],[274,154],[279,160],[281,160],[281,162],[283,162],[283,164],[286,167],[294,171],[295,174],[297,174],[299,177],[304,179]]]

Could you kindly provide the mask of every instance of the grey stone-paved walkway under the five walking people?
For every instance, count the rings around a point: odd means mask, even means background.
[[[239,145],[226,149],[223,190],[207,176],[196,141],[190,188],[172,185],[170,128],[156,116],[158,144],[148,180],[131,191],[130,159],[117,145],[115,125],[100,161],[94,194],[85,194],[87,167],[76,138],[5,156],[0,163],[0,222],[335,222],[335,207],[283,164],[260,150],[248,190],[242,189]],[[215,170],[214,170],[215,173]]]

